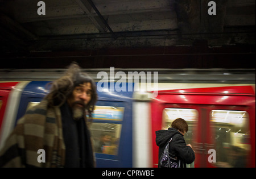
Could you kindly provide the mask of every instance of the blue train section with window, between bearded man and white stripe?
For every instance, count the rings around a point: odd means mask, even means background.
[[[96,165],[100,168],[132,167],[133,92],[112,91],[110,85],[107,83],[98,91],[90,125]]]

